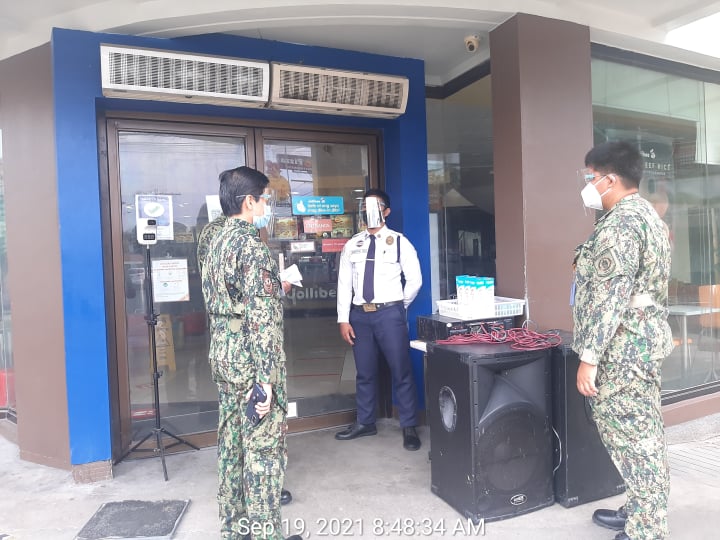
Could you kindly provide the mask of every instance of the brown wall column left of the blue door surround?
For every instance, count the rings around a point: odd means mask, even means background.
[[[17,441],[70,468],[50,46],[0,62]]]

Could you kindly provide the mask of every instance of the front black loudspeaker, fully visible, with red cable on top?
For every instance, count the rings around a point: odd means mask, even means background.
[[[550,349],[427,347],[433,493],[475,522],[553,504]]]

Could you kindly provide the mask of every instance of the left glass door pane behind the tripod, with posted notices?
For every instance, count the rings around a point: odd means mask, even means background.
[[[119,332],[123,341],[119,344],[119,367],[122,379],[124,349],[129,386],[129,407],[124,408],[129,408],[131,416],[131,429],[127,425],[122,428],[123,445],[142,437],[154,422],[146,319],[149,299],[144,283],[147,248],[136,237],[136,216],[142,210],[158,220],[158,242],[149,249],[154,312],[158,317],[155,337],[158,370],[162,371],[159,391],[163,426],[179,435],[214,432],[217,389],[208,363],[209,335],[196,239],[208,222],[208,196],[217,196],[218,175],[246,164],[246,138],[122,126],[115,136],[119,170],[116,198],[120,200],[114,207],[122,208],[126,326],[124,337]],[[147,206],[149,203],[153,208]],[[214,205],[210,204],[210,208],[210,218],[214,218]],[[116,253],[117,244],[116,240]]]

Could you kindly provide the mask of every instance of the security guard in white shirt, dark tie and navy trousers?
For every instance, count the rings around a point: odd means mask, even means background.
[[[335,438],[350,440],[377,433],[375,410],[382,353],[392,374],[403,446],[417,450],[417,390],[410,363],[407,307],[422,285],[420,261],[410,241],[385,226],[390,214],[387,193],[370,189],[363,202],[368,228],[343,247],[337,287],[340,334],[352,345],[355,356],[357,420]]]

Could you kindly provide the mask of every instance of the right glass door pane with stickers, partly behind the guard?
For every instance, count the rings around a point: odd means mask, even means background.
[[[371,148],[367,140],[264,133],[265,173],[276,194],[268,245],[303,276],[303,287],[285,302],[288,394],[301,418],[355,409],[355,362],[337,326],[337,267],[343,245],[358,232],[358,202],[377,170]]]

